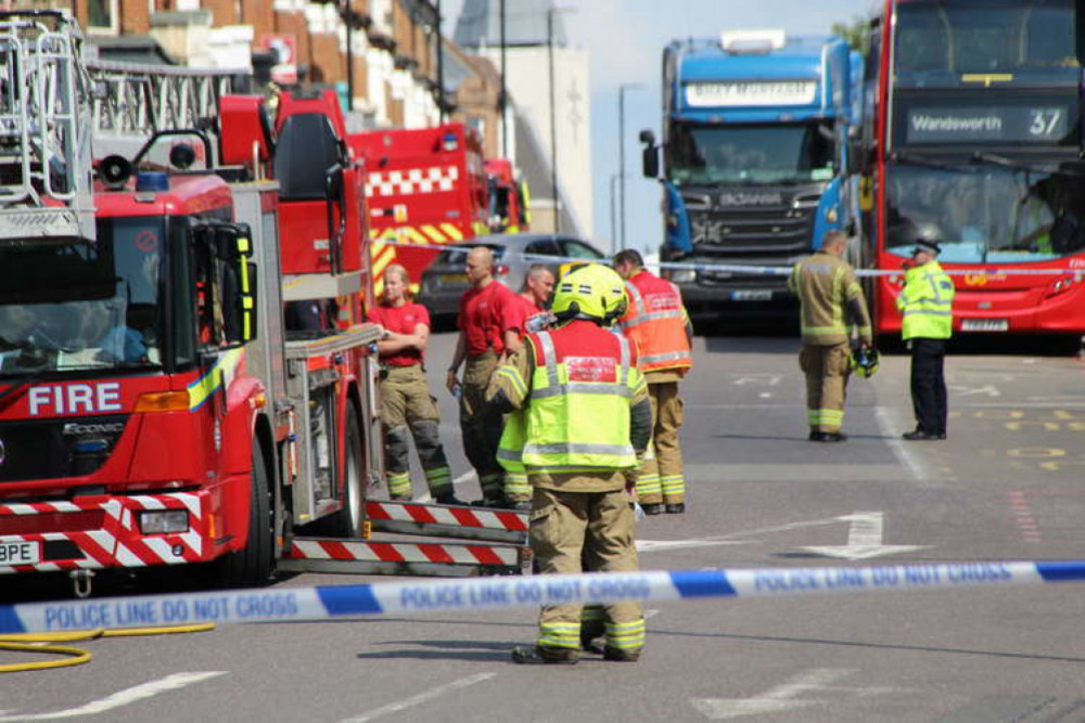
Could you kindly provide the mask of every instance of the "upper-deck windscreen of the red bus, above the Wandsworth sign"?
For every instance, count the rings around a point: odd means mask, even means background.
[[[896,82],[1075,82],[1076,20],[1073,0],[901,2]]]

